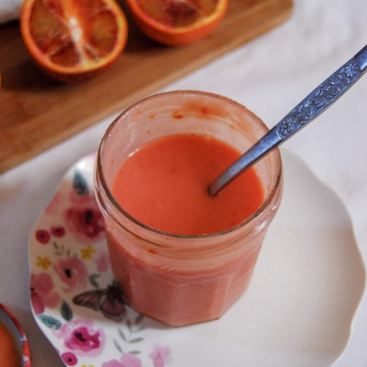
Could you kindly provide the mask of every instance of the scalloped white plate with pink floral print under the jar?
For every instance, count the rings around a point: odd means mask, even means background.
[[[170,328],[121,297],[94,160],[70,168],[30,235],[32,311],[65,365],[321,367],[343,352],[364,268],[345,207],[302,161],[283,152],[283,202],[248,291],[220,320]]]

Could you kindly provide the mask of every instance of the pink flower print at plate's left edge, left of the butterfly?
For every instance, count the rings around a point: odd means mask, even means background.
[[[31,274],[31,302],[35,313],[42,313],[45,307],[54,308],[60,295],[54,291],[55,284],[48,273]]]

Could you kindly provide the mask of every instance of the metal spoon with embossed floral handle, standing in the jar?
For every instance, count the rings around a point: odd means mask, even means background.
[[[367,45],[352,59],[338,68],[323,83],[279,121],[263,138],[227,168],[208,188],[209,194],[216,195],[229,182],[253,165],[264,155],[296,134],[314,118],[331,106],[367,70]]]

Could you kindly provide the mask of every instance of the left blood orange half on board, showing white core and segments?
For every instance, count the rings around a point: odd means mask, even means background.
[[[127,39],[126,18],[115,0],[25,0],[20,29],[35,61],[66,81],[110,66]]]

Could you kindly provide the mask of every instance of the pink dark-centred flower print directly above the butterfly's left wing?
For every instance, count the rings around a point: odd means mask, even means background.
[[[54,268],[61,280],[69,286],[67,289],[63,289],[64,292],[86,287],[88,270],[81,259],[77,257],[61,259]]]

